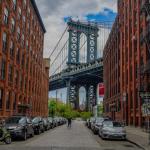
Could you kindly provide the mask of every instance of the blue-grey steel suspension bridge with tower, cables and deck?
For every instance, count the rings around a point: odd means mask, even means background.
[[[103,82],[103,50],[113,22],[69,19],[50,54],[49,91],[67,88],[67,103],[79,107],[79,89],[86,90],[86,110],[96,105],[97,87]]]

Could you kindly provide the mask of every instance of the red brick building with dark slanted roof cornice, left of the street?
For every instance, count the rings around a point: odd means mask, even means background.
[[[34,0],[0,1],[0,117],[48,115],[45,32]]]

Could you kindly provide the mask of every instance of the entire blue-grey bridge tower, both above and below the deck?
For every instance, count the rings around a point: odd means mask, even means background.
[[[87,58],[86,63],[93,62],[97,59],[97,38],[99,28],[96,24],[75,22],[71,19],[68,22],[69,32],[69,45],[68,45],[68,68],[80,65],[79,54],[80,54],[80,38],[81,34],[84,33],[87,37]],[[67,100],[75,109],[79,109],[79,88],[84,86],[86,89],[86,109],[91,110],[96,104],[96,84],[84,83],[76,84],[72,82],[72,78],[67,78]],[[91,110],[92,111],[92,110]]]

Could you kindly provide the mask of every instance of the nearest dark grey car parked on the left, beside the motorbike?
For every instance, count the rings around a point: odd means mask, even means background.
[[[12,116],[5,121],[6,129],[12,138],[21,137],[26,140],[29,136],[34,136],[32,121],[26,116]]]

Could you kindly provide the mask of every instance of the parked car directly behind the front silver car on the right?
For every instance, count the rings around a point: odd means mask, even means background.
[[[93,121],[92,125],[91,125],[91,129],[93,131],[94,134],[98,134],[99,128],[102,126],[104,121],[110,120],[110,118],[104,118],[104,117],[97,117],[95,118],[95,120]]]

